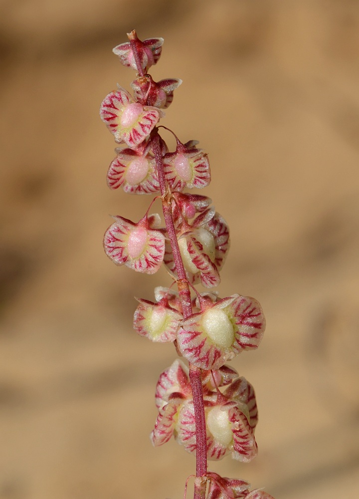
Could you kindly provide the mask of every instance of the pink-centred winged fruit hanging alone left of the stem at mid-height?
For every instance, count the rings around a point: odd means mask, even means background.
[[[165,253],[165,237],[154,230],[158,219],[144,217],[138,224],[122,217],[113,217],[105,233],[104,249],[116,265],[133,268],[138,272],[153,274],[160,268]]]

